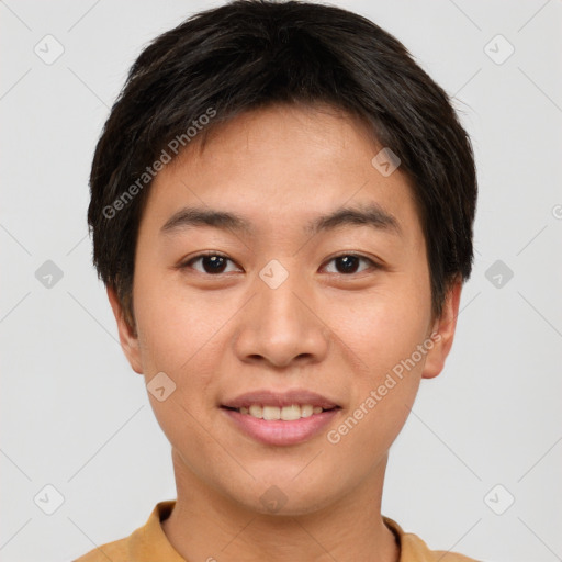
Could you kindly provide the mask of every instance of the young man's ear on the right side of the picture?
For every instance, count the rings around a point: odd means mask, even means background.
[[[434,347],[426,356],[426,362],[422,373],[424,379],[432,379],[443,370],[445,360],[451,350],[454,330],[457,328],[461,290],[462,278],[458,277],[447,291],[441,315],[434,322],[431,330],[431,334],[434,334],[431,337]]]

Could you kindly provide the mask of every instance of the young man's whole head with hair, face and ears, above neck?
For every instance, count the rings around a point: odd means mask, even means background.
[[[132,368],[175,385],[149,396],[181,470],[257,509],[277,485],[288,513],[380,477],[452,345],[476,202],[470,140],[405,47],[334,7],[202,12],[133,65],[90,187],[94,265]],[[252,391],[335,407],[266,443],[234,419]]]

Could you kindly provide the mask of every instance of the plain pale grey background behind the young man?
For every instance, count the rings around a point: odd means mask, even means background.
[[[69,560],[175,497],[169,445],[90,263],[87,179],[142,46],[217,3],[0,2],[2,561]],[[454,95],[479,166],[456,342],[392,449],[383,513],[431,548],[562,560],[562,1],[334,3],[396,35]],[[47,260],[63,273],[50,288]],[[47,484],[65,498],[53,515]]]

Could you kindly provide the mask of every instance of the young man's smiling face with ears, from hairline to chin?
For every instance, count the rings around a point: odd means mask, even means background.
[[[136,336],[110,299],[133,369],[149,389],[159,376],[149,398],[177,477],[286,514],[380,481],[420,379],[442,369],[460,294],[431,317],[412,190],[373,166],[381,148],[349,115],[274,106],[155,179]]]

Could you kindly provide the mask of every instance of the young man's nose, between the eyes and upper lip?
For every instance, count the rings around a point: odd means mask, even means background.
[[[318,310],[318,296],[304,280],[291,272],[273,288],[257,276],[252,291],[235,336],[235,352],[241,361],[284,368],[326,357],[330,329]]]

